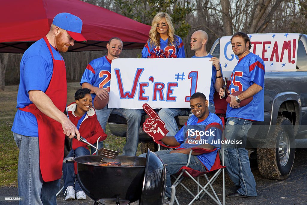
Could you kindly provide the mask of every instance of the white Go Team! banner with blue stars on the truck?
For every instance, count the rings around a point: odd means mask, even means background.
[[[252,53],[260,56],[266,71],[295,71],[299,34],[268,33],[247,34],[251,39]],[[220,63],[223,71],[231,71],[238,63],[232,51],[231,36],[220,39]]]

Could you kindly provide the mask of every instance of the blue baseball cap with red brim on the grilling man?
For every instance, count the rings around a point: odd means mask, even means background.
[[[64,29],[75,41],[87,41],[81,34],[82,20],[69,13],[60,13],[53,18],[53,25]]]

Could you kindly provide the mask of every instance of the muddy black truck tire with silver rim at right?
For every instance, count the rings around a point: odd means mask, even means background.
[[[260,174],[266,179],[287,179],[295,157],[295,136],[293,125],[288,118],[277,117],[274,134],[269,143],[275,144],[276,148],[257,149]]]

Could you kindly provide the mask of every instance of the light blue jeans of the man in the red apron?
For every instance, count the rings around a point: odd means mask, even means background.
[[[29,137],[13,132],[19,148],[18,196],[24,198],[19,204],[56,204],[60,179],[44,182],[39,165],[38,137]]]

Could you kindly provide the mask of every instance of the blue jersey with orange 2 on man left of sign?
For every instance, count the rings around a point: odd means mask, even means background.
[[[83,83],[89,83],[95,87],[106,89],[110,91],[111,85],[111,60],[107,59],[107,56],[96,58],[92,60],[86,67],[83,76],[80,81],[80,85]],[[96,97],[93,93],[92,99]]]

